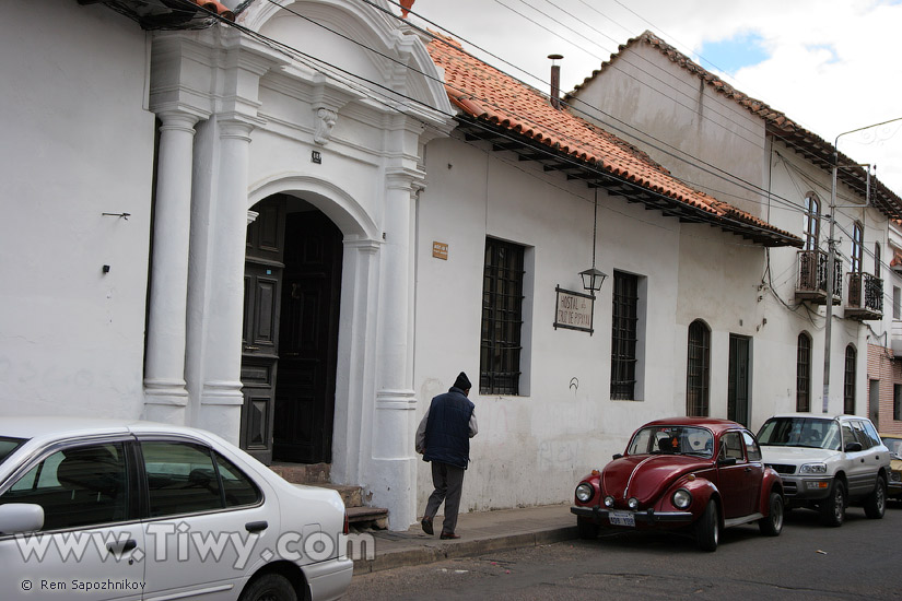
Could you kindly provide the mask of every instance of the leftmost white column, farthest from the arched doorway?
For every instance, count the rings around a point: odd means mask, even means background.
[[[184,424],[186,303],[191,215],[194,126],[198,116],[159,114],[160,154],[153,220],[153,263],[144,367],[148,420]]]

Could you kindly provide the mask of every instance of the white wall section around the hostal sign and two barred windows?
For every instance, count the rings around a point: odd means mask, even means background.
[[[591,263],[591,192],[460,140],[431,142],[426,173],[418,215],[418,415],[467,372],[480,432],[461,510],[565,503],[578,478],[622,451],[637,426],[682,411],[672,389],[679,222],[599,191],[597,266],[644,278],[647,332],[642,401],[611,401],[611,280],[596,302],[594,335],[552,327],[555,285],[582,291],[578,272]],[[478,390],[487,235],[526,247],[519,397]],[[432,257],[433,241],[448,245],[447,260]],[[432,491],[426,463],[419,474],[422,510]]]

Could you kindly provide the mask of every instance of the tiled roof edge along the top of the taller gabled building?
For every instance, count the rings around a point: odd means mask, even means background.
[[[618,51],[611,55],[609,60],[602,62],[600,68],[593,71],[591,75],[586,78],[583,83],[576,85],[572,92],[564,96],[564,102],[578,95],[578,92],[583,86],[609,69],[611,64],[613,64],[621,57],[623,50],[640,44],[646,44],[652,48],[657,49],[673,63],[680,66],[690,73],[695,74],[706,85],[710,85],[718,93],[723,94],[727,98],[731,98],[737,104],[745,107],[749,110],[749,113],[763,119],[770,134],[785,142],[789,148],[803,154],[813,164],[825,170],[832,169],[833,153],[836,152],[836,148],[833,144],[799,126],[784,113],[781,113],[768,104],[752,98],[739,90],[736,90],[734,86],[721,79],[719,75],[704,69],[688,56],[677,50],[673,46],[670,46],[660,37],[648,31],[639,37],[630,38],[626,40],[626,44],[621,44]],[[852,161],[843,153],[839,153],[839,164],[852,166],[857,165],[857,162]],[[865,196],[868,179],[865,169],[862,167],[842,168],[840,169],[839,177],[847,186],[857,190],[862,196]],[[871,199],[877,208],[880,209],[888,217],[902,217],[902,198],[876,178],[871,179],[870,186],[872,188]]]

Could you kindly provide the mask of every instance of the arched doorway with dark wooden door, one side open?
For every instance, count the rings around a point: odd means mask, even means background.
[[[265,463],[330,462],[342,235],[283,195],[254,208],[245,267],[242,446]]]

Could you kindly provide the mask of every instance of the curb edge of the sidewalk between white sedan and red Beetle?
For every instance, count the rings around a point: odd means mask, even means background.
[[[377,553],[372,559],[355,559],[354,574],[370,574],[396,567],[424,565],[444,559],[453,559],[455,557],[481,555],[492,551],[509,551],[527,546],[539,546],[542,544],[570,541],[577,537],[576,527],[567,526],[565,528],[552,528],[503,537],[424,544],[414,549],[399,549],[383,554]]]

